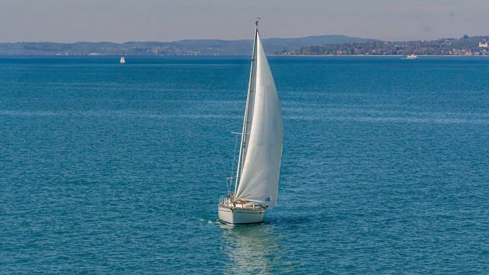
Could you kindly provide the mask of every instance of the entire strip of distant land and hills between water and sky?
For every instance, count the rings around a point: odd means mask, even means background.
[[[430,56],[489,55],[489,35],[432,41],[380,41],[344,35],[263,39],[273,55],[290,56]],[[189,39],[181,41],[112,42],[6,42],[0,55],[251,55],[253,40]],[[308,45],[308,46],[306,46]]]

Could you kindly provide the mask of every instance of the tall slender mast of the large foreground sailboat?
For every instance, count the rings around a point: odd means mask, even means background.
[[[242,172],[242,159],[244,156],[244,147],[246,147],[246,132],[248,128],[248,123],[251,121],[247,121],[248,119],[248,112],[249,112],[249,98],[252,95],[251,93],[253,92],[252,90],[252,84],[253,84],[253,70],[254,70],[254,62],[256,61],[255,54],[256,54],[256,38],[258,34],[258,20],[259,18],[256,18],[255,22],[255,35],[254,35],[254,42],[253,42],[253,53],[252,53],[252,67],[249,70],[249,83],[248,83],[248,93],[247,93],[247,98],[246,98],[246,107],[244,108],[244,119],[243,119],[243,130],[241,134],[241,143],[240,143],[240,156],[237,159],[237,171],[236,171],[236,182],[235,182],[235,192],[234,194],[236,195],[236,190],[237,190],[237,185],[241,177],[241,172]],[[236,199],[236,197],[234,198]],[[234,200],[233,199],[233,200]]]

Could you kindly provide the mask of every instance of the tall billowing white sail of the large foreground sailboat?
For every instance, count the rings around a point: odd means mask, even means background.
[[[278,177],[283,145],[283,122],[277,89],[256,31],[244,132],[240,182],[235,199],[266,206],[277,203]],[[247,121],[247,122],[246,122]],[[240,167],[238,167],[239,171]]]

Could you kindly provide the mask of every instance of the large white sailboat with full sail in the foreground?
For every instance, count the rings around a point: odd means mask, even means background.
[[[275,206],[282,158],[283,121],[275,81],[255,23],[252,66],[235,177],[234,192],[219,200],[219,220],[226,224],[263,222]]]

